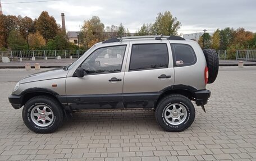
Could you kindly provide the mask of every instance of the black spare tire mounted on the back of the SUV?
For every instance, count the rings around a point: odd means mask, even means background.
[[[204,57],[207,62],[207,68],[209,73],[208,84],[213,83],[218,75],[218,54],[214,49],[203,49]]]

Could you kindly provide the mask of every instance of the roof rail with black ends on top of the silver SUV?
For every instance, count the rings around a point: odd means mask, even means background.
[[[185,40],[184,38],[181,38],[180,36],[164,36],[164,35],[145,35],[145,36],[126,36],[126,37],[121,37],[121,38],[110,38],[102,42],[103,44],[105,43],[114,43],[114,42],[121,42],[122,40],[127,40],[127,39],[145,39],[145,38],[154,38],[156,40],[162,40],[162,38],[167,39],[167,40]]]

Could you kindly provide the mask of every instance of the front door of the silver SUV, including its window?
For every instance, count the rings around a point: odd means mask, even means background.
[[[123,108],[122,86],[126,45],[95,50],[81,64],[84,77],[67,77],[67,102],[72,109]]]

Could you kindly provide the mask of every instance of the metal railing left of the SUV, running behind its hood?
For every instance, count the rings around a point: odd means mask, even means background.
[[[8,58],[74,58],[81,57],[86,50],[20,50],[20,51],[1,51],[1,57]]]

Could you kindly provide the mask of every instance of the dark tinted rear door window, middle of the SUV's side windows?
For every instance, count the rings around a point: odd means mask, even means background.
[[[168,50],[166,44],[132,45],[129,70],[144,70],[168,67]]]

